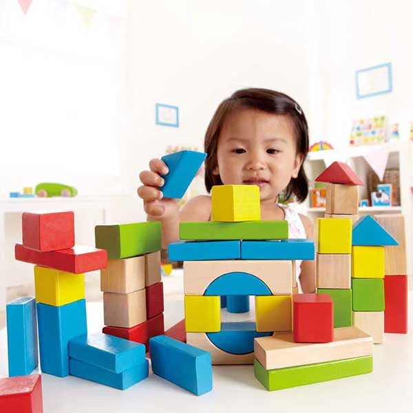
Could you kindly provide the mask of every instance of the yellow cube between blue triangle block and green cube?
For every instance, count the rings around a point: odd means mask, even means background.
[[[353,278],[384,278],[384,246],[353,246]]]

